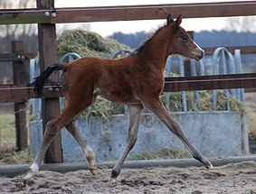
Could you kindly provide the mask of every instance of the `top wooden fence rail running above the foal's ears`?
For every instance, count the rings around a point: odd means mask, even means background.
[[[46,11],[50,16],[45,16]],[[184,18],[256,15],[256,1],[0,10],[0,24],[154,20],[166,19],[167,14],[183,14]]]

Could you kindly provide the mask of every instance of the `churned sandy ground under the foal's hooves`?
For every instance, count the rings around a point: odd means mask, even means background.
[[[241,162],[206,170],[190,168],[123,169],[117,185],[109,185],[109,169],[58,173],[40,171],[25,188],[18,188],[21,176],[0,178],[0,193],[189,193],[256,194],[256,162]]]

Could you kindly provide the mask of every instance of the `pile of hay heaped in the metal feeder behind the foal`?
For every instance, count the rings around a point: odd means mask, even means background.
[[[69,30],[62,32],[57,39],[57,44],[59,59],[61,59],[62,56],[68,52],[76,52],[81,56],[110,58],[116,51],[121,49],[129,49],[126,45],[109,38],[102,38],[95,32],[81,30]],[[212,92],[199,91],[199,93],[201,105],[200,108],[196,106],[194,92],[186,92],[188,111],[214,110],[212,103]],[[226,97],[223,90],[218,91],[217,96],[218,106],[215,110],[226,110],[226,104],[228,101],[230,101],[231,110],[244,112],[246,109],[243,103],[236,98]],[[166,105],[165,94],[161,96],[161,99]],[[170,111],[183,111],[182,95],[180,92],[171,93],[170,99],[170,107],[167,107]],[[98,115],[101,117],[107,117],[108,115],[117,115],[123,113],[125,113],[124,106],[110,103],[109,100],[106,100],[103,97],[98,97],[94,105],[90,107],[90,111],[84,115]]]

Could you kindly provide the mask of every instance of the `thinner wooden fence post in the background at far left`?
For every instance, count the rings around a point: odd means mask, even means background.
[[[12,42],[12,52],[22,59],[24,52],[23,42]],[[27,61],[13,61],[14,84],[27,84],[30,81],[29,65]],[[16,128],[16,149],[18,151],[27,148],[27,128],[26,128],[26,104],[14,103],[15,128]]]

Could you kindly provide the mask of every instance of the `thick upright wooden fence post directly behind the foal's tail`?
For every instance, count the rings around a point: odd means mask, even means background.
[[[53,0],[37,0],[37,8],[53,8]],[[41,71],[57,62],[56,29],[55,24],[38,24],[38,39],[40,53]],[[58,76],[52,75],[49,82],[57,82]],[[43,132],[48,121],[60,115],[60,101],[58,97],[43,98]],[[62,139],[61,133],[53,139],[48,151],[46,152],[47,163],[62,162]]]

